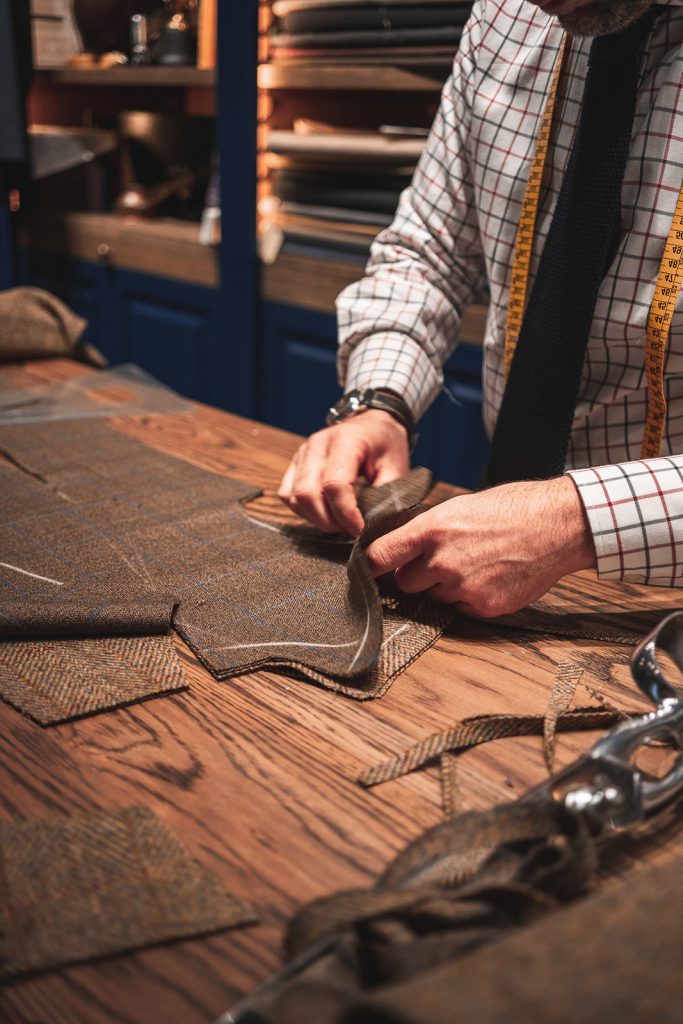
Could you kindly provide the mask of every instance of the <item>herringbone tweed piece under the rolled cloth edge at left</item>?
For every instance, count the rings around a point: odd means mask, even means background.
[[[169,636],[0,643],[0,694],[41,725],[186,688]]]

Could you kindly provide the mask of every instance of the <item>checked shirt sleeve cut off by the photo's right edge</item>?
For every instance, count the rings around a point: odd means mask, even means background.
[[[683,456],[574,469],[603,580],[683,587]]]

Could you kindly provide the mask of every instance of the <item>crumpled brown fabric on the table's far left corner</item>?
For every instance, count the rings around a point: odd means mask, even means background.
[[[0,292],[0,361],[71,355],[106,366],[94,346],[83,341],[87,322],[41,288]]]

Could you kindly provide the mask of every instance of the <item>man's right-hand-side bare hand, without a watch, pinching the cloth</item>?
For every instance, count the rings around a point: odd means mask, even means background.
[[[401,590],[429,590],[477,618],[517,611],[595,564],[568,476],[452,498],[374,541],[366,555],[374,575],[394,570]]]

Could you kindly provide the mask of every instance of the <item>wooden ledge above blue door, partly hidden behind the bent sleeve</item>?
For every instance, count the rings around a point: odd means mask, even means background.
[[[361,275],[361,261],[282,253],[274,263],[261,266],[261,297],[269,302],[333,313],[335,299],[342,289]],[[481,345],[485,325],[486,306],[470,306],[465,310],[459,340]]]

